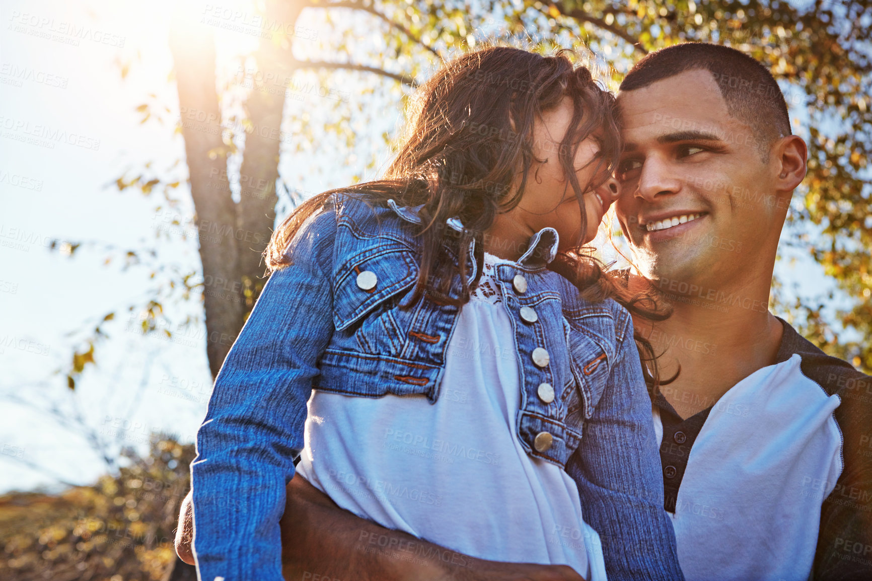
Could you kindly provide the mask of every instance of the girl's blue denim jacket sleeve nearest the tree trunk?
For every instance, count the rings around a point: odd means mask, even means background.
[[[306,402],[333,333],[336,215],[303,224],[228,353],[191,464],[202,581],[282,581],[279,519],[303,449]]]

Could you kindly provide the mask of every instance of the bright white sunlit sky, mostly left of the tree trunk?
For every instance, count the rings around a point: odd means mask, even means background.
[[[146,162],[161,175],[185,177],[183,167],[170,168],[184,154],[174,132],[179,106],[167,44],[177,5],[0,3],[0,492],[93,482],[107,467],[88,434],[110,451],[128,445],[144,452],[153,432],[194,441],[206,413],[211,379],[202,325],[170,341],[135,332],[139,310],[126,309],[144,304],[155,281],[146,268],[124,269],[119,260],[126,249],[155,246],[160,260],[183,271],[199,268],[192,230],[164,221],[190,217],[184,184],[177,208],[157,208],[155,196],[114,187]],[[215,9],[194,0],[186,6],[194,14]],[[313,43],[330,40],[323,22],[299,24]],[[360,30],[353,41],[378,42],[378,26]],[[233,55],[254,49],[249,32],[216,27],[220,74],[232,75]],[[340,74],[328,88],[344,96],[338,105],[349,110],[383,103],[371,123],[356,126],[359,154],[337,164],[330,140],[302,151],[283,144],[279,169],[290,188],[338,187],[354,175],[372,176],[368,161],[379,167],[387,160],[381,135],[402,119],[399,93],[386,82],[383,91],[364,95],[356,82]],[[288,99],[289,123],[309,115],[317,124],[337,106],[317,92]],[[140,123],[136,108],[143,103],[169,111],[162,122]],[[233,99],[226,106],[238,109]],[[238,159],[229,166],[232,172]],[[52,239],[84,244],[67,256],[49,248]],[[788,283],[809,294],[830,288],[801,249],[784,255],[778,272]],[[99,345],[97,366],[73,393],[54,372],[110,311],[119,314],[105,325],[110,337]],[[167,305],[172,320],[198,314],[197,301]]]

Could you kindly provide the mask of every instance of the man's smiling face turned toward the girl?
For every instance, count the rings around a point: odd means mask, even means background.
[[[789,197],[775,195],[777,170],[751,126],[727,113],[712,73],[683,72],[617,102],[617,217],[644,277],[712,283],[773,262]]]

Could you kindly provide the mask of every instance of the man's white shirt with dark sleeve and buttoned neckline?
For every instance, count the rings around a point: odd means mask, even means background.
[[[653,402],[688,581],[872,580],[872,378],[781,322],[775,363],[712,407]]]

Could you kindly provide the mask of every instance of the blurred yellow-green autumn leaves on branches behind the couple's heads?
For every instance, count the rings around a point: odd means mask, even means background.
[[[268,9],[273,4],[282,3],[265,3]],[[351,18],[339,17],[349,14]],[[794,292],[798,301],[775,293],[773,310],[825,351],[872,373],[872,341],[868,340],[872,338],[872,0],[338,0],[303,2],[299,15],[294,24],[317,31],[316,38],[274,35],[270,41],[285,49],[281,58],[287,60],[284,70],[290,74],[283,90],[296,96],[300,87],[313,83],[329,87],[348,86],[349,80],[355,83],[355,99],[317,99],[305,106],[286,99],[283,109],[284,126],[290,129],[285,130],[282,155],[329,150],[318,162],[324,167],[305,164],[307,174],[326,174],[329,187],[343,185],[330,181],[337,179],[332,177],[336,172],[330,171],[337,164],[359,168],[354,180],[362,178],[364,166],[376,168],[384,147],[394,143],[397,133],[385,132],[373,141],[367,126],[386,109],[402,109],[411,85],[425,80],[442,58],[456,51],[486,43],[537,51],[571,48],[586,55],[588,64],[612,89],[617,89],[623,73],[647,52],[680,42],[727,44],[759,59],[779,79],[794,115],[794,130],[809,146],[808,176],[794,196],[785,243],[820,264],[839,293],[838,308],[832,306],[835,303],[829,295],[811,296],[804,289]],[[216,65],[219,70],[237,71],[229,77],[219,75],[217,87],[224,104],[221,126],[227,147],[222,155],[228,161],[232,155],[245,155],[240,138],[244,140],[248,131],[244,112],[251,90],[240,85],[238,71],[248,70],[245,63],[252,58],[258,58],[257,51]],[[158,102],[154,93],[143,100],[133,112],[143,122],[164,124],[167,113],[174,110]],[[179,126],[173,131],[179,133]],[[186,163],[192,161],[179,159],[160,168],[147,161],[119,176],[114,184],[119,191],[153,196],[159,204],[156,212],[178,211]],[[239,166],[229,163],[228,176],[238,174],[233,167]],[[279,214],[311,194],[303,190],[301,180],[302,174],[279,178],[279,206],[283,207]],[[265,228],[271,226],[265,222]],[[192,233],[196,238],[191,224],[175,218],[172,224],[156,224],[155,230],[158,239],[187,238]],[[68,256],[78,248],[79,243],[58,246]],[[210,273],[179,268],[153,249],[124,252],[112,248],[111,253],[123,257],[125,268],[140,265],[149,269],[156,283],[148,304],[127,307],[145,313],[140,316],[144,334],[171,334],[167,326],[153,325],[158,316],[161,320],[170,317],[160,311],[162,305],[190,297],[202,300],[204,288],[199,281]],[[111,260],[120,263],[114,257]],[[239,298],[247,305],[246,316],[254,298]],[[99,327],[103,323],[95,321],[80,337],[69,365],[58,370],[67,376],[71,388],[96,361],[93,345],[105,337]],[[201,323],[201,319],[188,317],[185,325]],[[235,335],[232,329],[210,328],[210,336],[213,331]],[[220,362],[211,365],[216,368]]]

